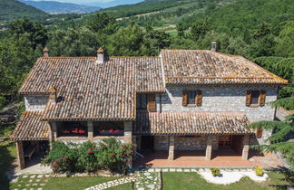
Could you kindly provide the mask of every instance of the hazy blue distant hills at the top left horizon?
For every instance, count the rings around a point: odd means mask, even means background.
[[[70,3],[61,3],[56,1],[26,1],[20,0],[25,5],[32,5],[48,14],[86,14],[98,11],[101,8],[97,6],[76,5]]]

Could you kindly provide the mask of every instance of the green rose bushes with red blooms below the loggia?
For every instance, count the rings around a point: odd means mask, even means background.
[[[56,141],[42,160],[54,173],[95,173],[98,169],[127,173],[133,155],[132,144],[122,144],[115,138],[105,138],[98,144],[64,144]]]

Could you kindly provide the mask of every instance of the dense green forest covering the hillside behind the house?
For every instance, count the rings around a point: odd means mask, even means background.
[[[119,14],[107,14],[110,10]],[[116,19],[149,12],[155,14]],[[209,49],[215,41],[218,51],[240,54],[289,80],[279,95],[293,95],[292,0],[146,1],[52,20],[22,18],[0,33],[1,106],[15,97],[44,46],[51,56],[95,55],[100,46],[109,55],[138,56],[158,55],[163,48]]]

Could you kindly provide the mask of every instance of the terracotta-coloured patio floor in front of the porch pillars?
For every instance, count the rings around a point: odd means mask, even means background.
[[[185,166],[218,166],[218,167],[277,167],[283,166],[279,158],[271,153],[259,154],[250,151],[248,160],[233,150],[213,150],[211,160],[205,159],[205,151],[175,151],[174,160],[169,160],[168,151],[142,152],[144,158],[133,162],[134,166],[185,167]]]

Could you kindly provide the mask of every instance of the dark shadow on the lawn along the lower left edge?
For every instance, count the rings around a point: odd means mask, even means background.
[[[15,157],[9,151],[9,148],[14,146],[15,143],[9,140],[0,143],[0,190],[9,189],[9,180],[5,172],[14,167]]]

